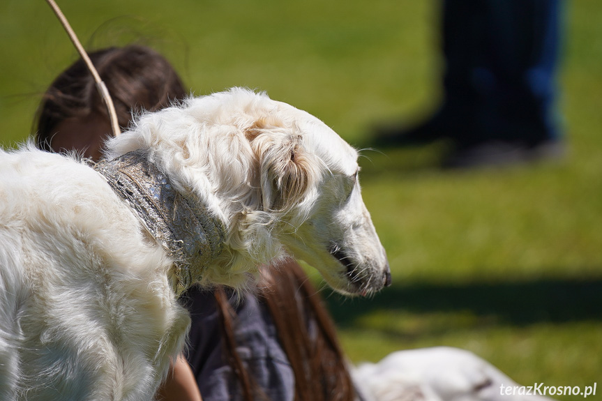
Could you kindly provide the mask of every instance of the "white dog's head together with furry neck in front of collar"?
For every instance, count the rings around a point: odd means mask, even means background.
[[[107,155],[140,148],[227,227],[223,257],[202,282],[244,287],[258,264],[289,254],[344,294],[390,284],[357,152],[314,116],[232,89],[142,116]]]

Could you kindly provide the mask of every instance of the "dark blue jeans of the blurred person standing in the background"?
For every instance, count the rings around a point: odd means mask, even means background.
[[[559,137],[560,0],[444,0],[444,104],[460,144]]]

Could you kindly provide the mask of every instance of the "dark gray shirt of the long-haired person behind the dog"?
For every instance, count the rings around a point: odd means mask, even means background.
[[[225,356],[223,328],[213,292],[191,289],[183,303],[193,319],[190,328],[188,362],[193,368],[204,401],[242,400],[239,380]],[[232,298],[236,310],[234,338],[236,351],[247,371],[268,400],[294,400],[294,374],[280,347],[276,327],[264,303],[252,294],[240,303]],[[262,400],[262,395],[255,395]]]

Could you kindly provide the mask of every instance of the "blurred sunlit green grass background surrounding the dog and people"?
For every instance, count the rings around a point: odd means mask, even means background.
[[[417,121],[440,97],[434,0],[59,5],[89,49],[150,45],[197,95],[264,90],[358,146],[374,123]],[[393,286],[370,300],[322,291],[352,361],[453,345],[522,384],[602,381],[602,2],[569,1],[565,20],[566,159],[442,172],[437,146],[363,151]],[[0,3],[2,146],[27,138],[40,94],[76,57],[45,1]]]

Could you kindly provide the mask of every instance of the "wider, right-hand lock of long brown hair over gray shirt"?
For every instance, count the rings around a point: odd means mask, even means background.
[[[267,280],[273,292],[266,289],[264,299],[294,370],[295,399],[354,400],[336,327],[301,266],[291,261],[272,271]]]

